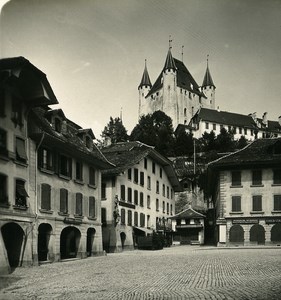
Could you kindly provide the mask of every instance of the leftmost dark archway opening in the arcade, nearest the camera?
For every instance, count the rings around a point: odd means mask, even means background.
[[[11,268],[16,268],[20,265],[24,231],[17,223],[12,222],[3,225],[1,233],[7,251],[9,265]]]

